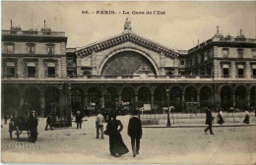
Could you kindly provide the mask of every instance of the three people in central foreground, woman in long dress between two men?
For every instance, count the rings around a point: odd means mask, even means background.
[[[104,118],[99,111],[96,116],[96,138],[99,138],[99,130],[101,139],[103,139],[103,134],[109,136],[109,150],[112,156],[119,157],[125,153],[128,153],[129,149],[123,142],[120,134],[123,130],[123,125],[120,120],[116,119],[116,113],[112,112],[108,115],[105,131],[103,131],[103,122]],[[128,136],[131,138],[133,156],[135,157],[139,154],[140,139],[142,138],[142,123],[138,118],[138,111],[136,110],[133,111],[133,115],[129,120]]]

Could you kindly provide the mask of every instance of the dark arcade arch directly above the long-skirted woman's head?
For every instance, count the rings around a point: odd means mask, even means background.
[[[117,88],[109,86],[105,89],[104,106],[107,110],[115,110],[119,106]]]

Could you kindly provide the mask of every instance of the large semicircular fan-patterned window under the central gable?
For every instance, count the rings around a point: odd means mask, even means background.
[[[156,75],[156,71],[152,63],[143,55],[125,51],[112,56],[104,65],[102,76],[133,76],[141,66],[146,66],[147,69]]]

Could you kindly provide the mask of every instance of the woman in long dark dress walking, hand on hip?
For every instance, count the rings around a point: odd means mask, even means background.
[[[106,131],[104,133],[109,136],[109,150],[112,156],[119,157],[129,152],[120,134],[122,130],[123,125],[121,121],[116,120],[115,113],[111,113],[109,120],[107,121]]]

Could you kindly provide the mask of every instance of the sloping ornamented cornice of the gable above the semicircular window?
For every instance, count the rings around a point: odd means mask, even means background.
[[[179,55],[178,52],[173,49],[167,48],[165,46],[160,45],[157,42],[144,38],[134,32],[123,32],[119,35],[101,40],[99,42],[90,44],[83,48],[80,48],[75,53],[80,57],[85,57],[91,55],[93,52],[100,52],[105,49],[114,47],[116,45],[122,44],[124,42],[132,42],[136,45],[149,49],[151,51],[162,53],[168,57],[177,57]]]

